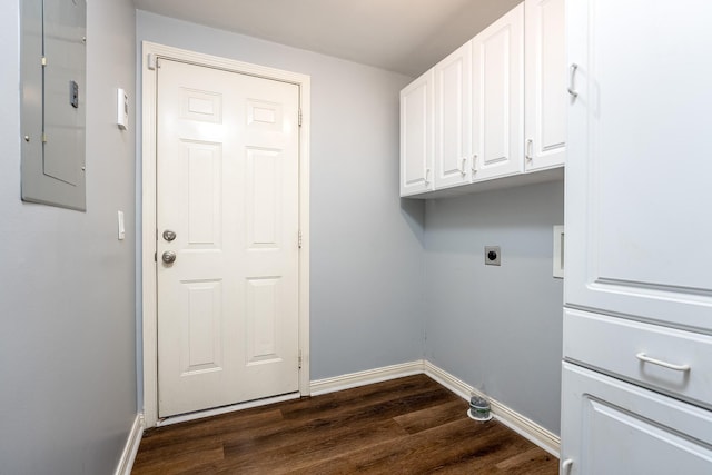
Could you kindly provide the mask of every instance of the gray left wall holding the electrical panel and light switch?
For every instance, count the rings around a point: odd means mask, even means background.
[[[108,474],[136,417],[130,0],[88,2],[87,212],[20,201],[18,1],[0,16],[0,473]],[[127,240],[117,240],[117,210]]]

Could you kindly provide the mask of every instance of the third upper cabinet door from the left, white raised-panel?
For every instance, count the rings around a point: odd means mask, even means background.
[[[518,174],[524,162],[524,4],[472,41],[473,181]]]

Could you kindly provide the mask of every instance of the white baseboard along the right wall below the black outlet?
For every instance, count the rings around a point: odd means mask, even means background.
[[[524,417],[498,400],[491,398],[486,394],[482,394],[477,389],[474,389],[468,384],[438,368],[431,362],[424,362],[423,366],[424,373],[427,376],[435,379],[465,400],[469,400],[471,392],[473,390],[481,397],[486,398],[490,402],[492,414],[497,420],[526,439],[538,445],[555,457],[560,457],[561,438],[556,434],[547,431],[532,419]]]

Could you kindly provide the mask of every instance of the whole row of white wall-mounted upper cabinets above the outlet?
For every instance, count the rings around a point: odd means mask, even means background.
[[[563,2],[520,3],[400,92],[400,196],[563,177]]]

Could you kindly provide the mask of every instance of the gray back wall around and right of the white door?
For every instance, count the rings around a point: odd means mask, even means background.
[[[423,204],[397,192],[411,78],[144,11],[137,38],[312,77],[312,379],[422,358]]]

